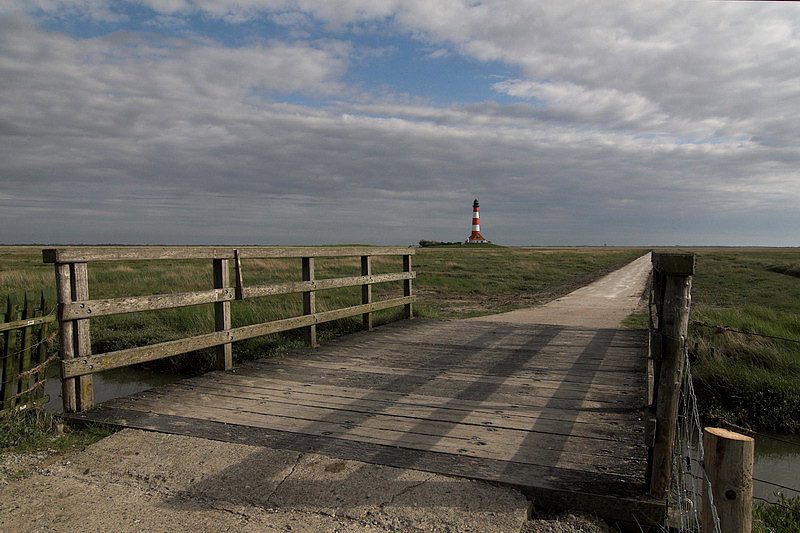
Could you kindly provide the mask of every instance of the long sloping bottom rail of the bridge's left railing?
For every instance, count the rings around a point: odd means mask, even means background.
[[[151,344],[149,346],[128,348],[126,350],[98,354],[92,357],[64,358],[61,363],[61,375],[64,378],[70,378],[92,374],[94,372],[102,372],[103,370],[109,370],[121,366],[144,363],[146,361],[162,359],[164,357],[170,357],[172,355],[187,353],[194,350],[211,348],[213,346],[228,342],[260,337],[262,335],[288,331],[312,324],[320,324],[322,322],[329,322],[331,320],[356,316],[367,311],[377,311],[380,309],[387,309],[389,307],[405,305],[409,301],[413,301],[413,298],[415,297],[412,296],[411,298],[411,300],[407,298],[393,298],[390,300],[371,303],[369,305],[356,305],[353,307],[346,307],[334,311],[325,311],[323,313],[316,313],[313,315],[303,315],[299,317],[285,318],[283,320],[275,320],[273,322],[265,322],[263,324],[242,326],[239,328],[229,329],[227,331],[217,331],[214,333],[197,335],[185,339]]]

